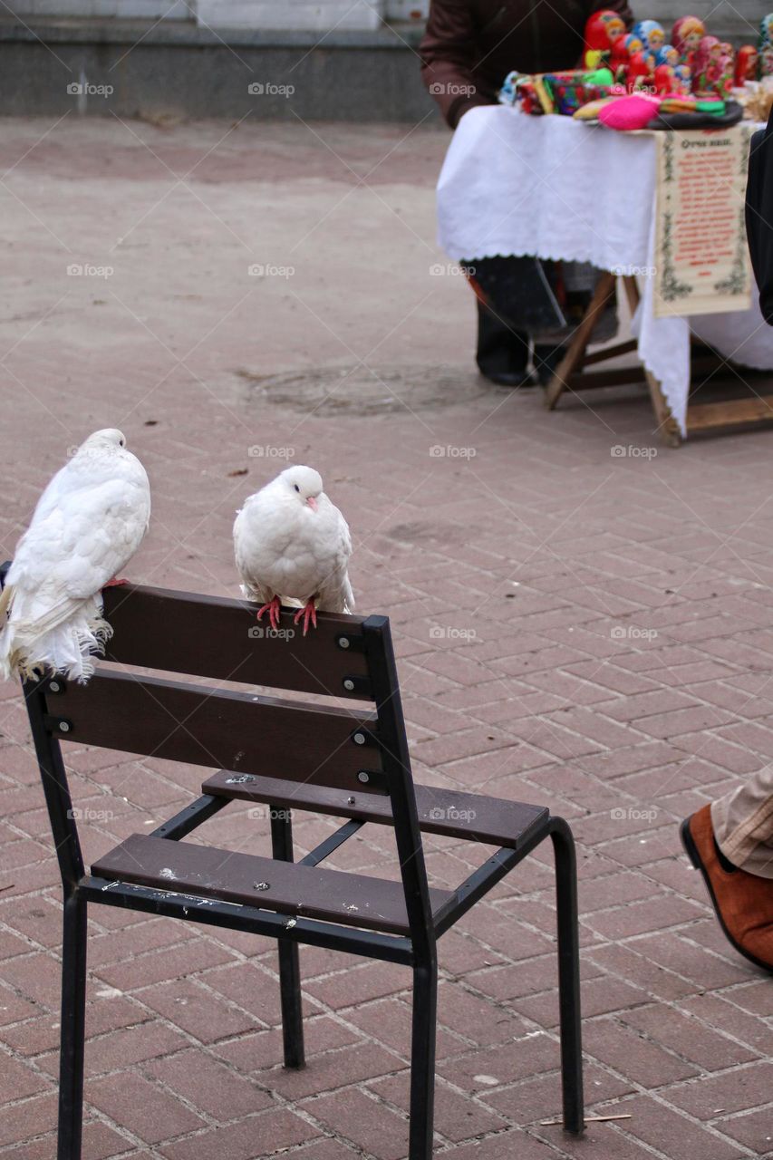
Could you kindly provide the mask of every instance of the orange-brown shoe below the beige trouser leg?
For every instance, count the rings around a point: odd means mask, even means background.
[[[686,818],[679,834],[689,861],[703,875],[730,943],[756,966],[773,972],[773,880],[745,870],[729,873],[721,867],[708,805]]]

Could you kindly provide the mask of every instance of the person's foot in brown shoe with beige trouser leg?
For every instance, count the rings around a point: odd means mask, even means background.
[[[773,770],[759,770],[681,824],[729,942],[773,972]]]

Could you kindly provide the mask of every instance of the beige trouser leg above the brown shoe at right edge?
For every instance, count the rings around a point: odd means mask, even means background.
[[[773,767],[711,803],[714,838],[734,867],[773,879]]]

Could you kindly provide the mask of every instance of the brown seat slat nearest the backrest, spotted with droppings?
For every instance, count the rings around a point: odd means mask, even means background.
[[[299,918],[390,934],[409,933],[402,883],[275,862],[212,846],[132,834],[95,862],[92,873],[111,882],[219,898]],[[255,889],[255,883],[261,887],[266,884],[266,889]],[[433,913],[453,898],[451,891],[431,890]]]

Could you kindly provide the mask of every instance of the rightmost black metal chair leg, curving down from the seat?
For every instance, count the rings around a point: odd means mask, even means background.
[[[561,1082],[564,1128],[585,1128],[583,1103],[583,1032],[580,1025],[579,929],[577,920],[577,858],[575,839],[563,818],[550,819],[556,858],[558,918],[558,1005],[561,1015]]]

